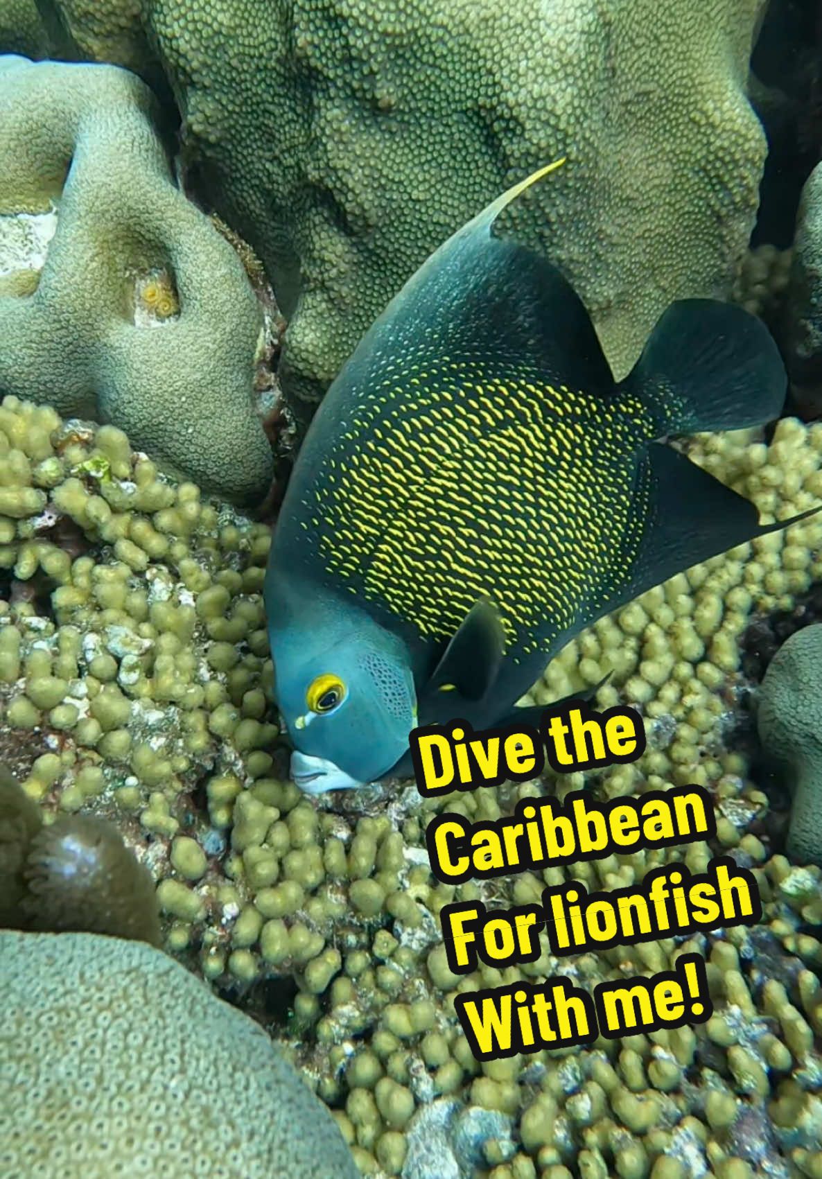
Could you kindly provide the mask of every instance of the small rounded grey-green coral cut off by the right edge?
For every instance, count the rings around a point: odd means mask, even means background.
[[[759,737],[790,770],[787,851],[822,865],[822,625],[797,631],[774,656],[759,690]]]

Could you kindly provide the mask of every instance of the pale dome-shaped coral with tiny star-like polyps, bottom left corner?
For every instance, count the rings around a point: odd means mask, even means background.
[[[4,1177],[356,1179],[263,1029],[165,954],[0,931],[0,987]]]

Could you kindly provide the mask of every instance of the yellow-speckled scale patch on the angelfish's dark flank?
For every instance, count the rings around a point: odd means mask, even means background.
[[[386,357],[314,480],[302,521],[325,572],[426,638],[482,597],[528,654],[636,555],[646,503],[637,400],[547,384],[495,358]],[[408,376],[413,373],[413,376]],[[642,494],[642,492],[640,492]],[[630,527],[629,527],[630,522]]]

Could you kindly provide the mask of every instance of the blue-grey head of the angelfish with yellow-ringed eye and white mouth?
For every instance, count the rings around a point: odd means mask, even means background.
[[[291,777],[311,795],[386,777],[417,723],[400,641],[381,630],[342,637],[336,630],[271,632],[277,706],[294,745]]]

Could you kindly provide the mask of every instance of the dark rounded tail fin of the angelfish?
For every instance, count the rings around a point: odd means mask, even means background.
[[[642,399],[662,437],[770,422],[782,411],[788,377],[761,320],[693,298],[663,314],[619,388]]]

